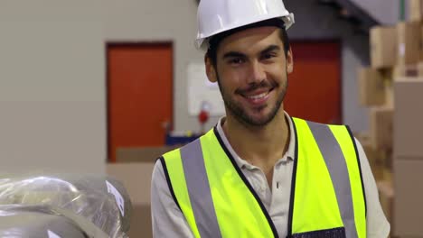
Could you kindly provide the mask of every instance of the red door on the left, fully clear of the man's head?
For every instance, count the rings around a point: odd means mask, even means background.
[[[108,44],[108,159],[164,145],[173,116],[172,43]]]

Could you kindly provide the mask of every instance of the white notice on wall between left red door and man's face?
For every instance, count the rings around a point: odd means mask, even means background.
[[[202,106],[207,105],[211,115],[225,114],[221,92],[217,83],[211,83],[206,76],[203,63],[190,63],[188,76],[188,112],[191,115],[200,113]]]

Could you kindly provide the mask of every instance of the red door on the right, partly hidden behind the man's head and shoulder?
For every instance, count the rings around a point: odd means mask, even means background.
[[[294,41],[284,109],[323,124],[342,123],[341,47],[338,41]]]

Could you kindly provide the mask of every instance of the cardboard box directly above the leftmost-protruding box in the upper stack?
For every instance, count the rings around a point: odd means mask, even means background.
[[[370,44],[372,68],[389,68],[395,65],[398,51],[395,27],[376,26],[371,28]]]

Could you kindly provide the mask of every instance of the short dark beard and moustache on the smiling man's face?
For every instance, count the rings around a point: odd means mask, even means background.
[[[277,102],[271,108],[270,113],[268,113],[263,118],[256,119],[254,118],[254,116],[249,115],[239,103],[236,103],[234,100],[231,99],[230,94],[228,94],[223,89],[223,87],[221,87],[221,80],[219,76],[217,77],[217,79],[219,84],[219,90],[221,91],[221,97],[223,98],[223,102],[227,110],[230,111],[230,114],[232,114],[234,118],[238,122],[240,122],[240,124],[245,124],[248,126],[258,127],[258,126],[264,126],[269,124],[277,115],[277,112],[280,109],[280,105],[282,105],[282,102],[284,101],[285,95],[287,93],[287,80],[286,80],[285,81],[286,83],[282,83],[279,86],[277,86],[277,87],[282,87],[282,91],[277,95]],[[251,85],[251,87],[249,87],[249,90],[254,90],[254,89],[263,88],[263,87],[272,87],[272,86],[269,86],[268,83],[266,82],[261,82],[255,85]],[[277,87],[275,87],[273,90],[276,90]],[[256,108],[255,110],[258,110],[258,111],[264,110],[268,106],[272,106],[272,105],[263,105],[261,107]]]

